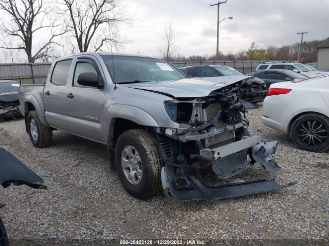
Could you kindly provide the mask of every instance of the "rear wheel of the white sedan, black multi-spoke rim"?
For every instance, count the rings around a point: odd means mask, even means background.
[[[329,119],[317,113],[301,115],[291,125],[290,135],[302,150],[325,152],[329,150]]]

